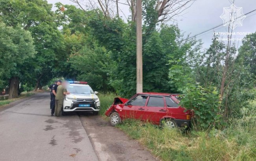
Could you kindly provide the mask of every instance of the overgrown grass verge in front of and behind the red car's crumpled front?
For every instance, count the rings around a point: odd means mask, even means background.
[[[113,103],[113,93],[100,94],[101,115]],[[161,129],[138,120],[118,126],[163,161],[256,161],[256,117],[234,119],[223,131]]]

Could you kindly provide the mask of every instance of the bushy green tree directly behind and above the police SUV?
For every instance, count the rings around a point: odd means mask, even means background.
[[[105,48],[83,47],[78,53],[70,56],[71,67],[78,71],[76,78],[87,81],[89,85],[100,91],[113,91],[109,85],[109,75],[112,71],[113,60]]]

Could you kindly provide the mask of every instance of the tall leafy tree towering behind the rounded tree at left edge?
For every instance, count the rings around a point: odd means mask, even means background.
[[[63,59],[63,41],[51,9],[52,5],[44,0],[0,0],[0,15],[4,23],[14,27],[20,25],[32,34],[37,54],[24,63],[24,77],[20,80],[35,89],[52,78],[54,65]],[[12,89],[11,83],[9,86]]]

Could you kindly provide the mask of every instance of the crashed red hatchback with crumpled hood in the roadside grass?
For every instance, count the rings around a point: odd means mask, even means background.
[[[149,121],[153,124],[174,127],[188,127],[193,113],[181,107],[177,96],[169,93],[138,93],[130,100],[115,98],[106,111],[112,126],[120,124],[126,118]]]

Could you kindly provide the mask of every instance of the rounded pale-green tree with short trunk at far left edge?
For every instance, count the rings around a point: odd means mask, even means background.
[[[0,21],[0,88],[9,83],[9,98],[18,96],[22,70],[26,61],[35,56],[34,47],[29,31]]]

